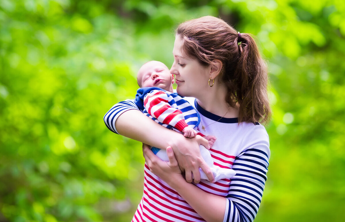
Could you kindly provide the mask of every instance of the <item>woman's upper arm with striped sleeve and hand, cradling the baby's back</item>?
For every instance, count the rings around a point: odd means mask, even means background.
[[[125,137],[162,149],[171,146],[189,183],[193,181],[192,175],[195,183],[200,182],[199,167],[213,181],[211,169],[200,154],[200,144],[208,148],[208,141],[201,136],[186,138],[181,133],[161,126],[141,113],[133,100],[114,105],[104,116],[104,121],[111,131]]]

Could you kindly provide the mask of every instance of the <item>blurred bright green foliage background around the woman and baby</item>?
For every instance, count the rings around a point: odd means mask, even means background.
[[[136,72],[172,64],[174,28],[205,15],[257,37],[271,157],[256,222],[345,221],[342,0],[1,0],[0,221],[130,221],[139,142],[103,115]]]

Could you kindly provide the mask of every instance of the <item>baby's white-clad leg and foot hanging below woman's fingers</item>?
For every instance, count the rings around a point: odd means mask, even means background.
[[[210,151],[202,145],[200,145],[200,153],[201,153],[201,156],[203,156],[206,164],[211,168],[215,181],[218,181],[220,179],[230,179],[231,177],[235,176],[236,174],[235,170],[221,168],[219,166],[214,165]],[[199,171],[200,171],[201,179],[208,180],[206,174],[201,168],[199,168]]]

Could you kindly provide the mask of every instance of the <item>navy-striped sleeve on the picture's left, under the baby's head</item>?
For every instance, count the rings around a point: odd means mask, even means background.
[[[112,132],[119,134],[115,128],[116,119],[124,112],[132,109],[137,109],[137,105],[134,100],[125,100],[119,103],[116,103],[111,109],[104,115],[103,120],[107,128]]]

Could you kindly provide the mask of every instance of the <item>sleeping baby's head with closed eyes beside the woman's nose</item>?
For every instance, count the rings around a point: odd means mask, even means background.
[[[172,84],[175,82],[169,68],[158,61],[142,65],[138,71],[137,81],[140,87],[159,87],[169,92],[172,92]]]

